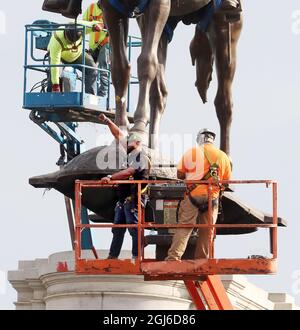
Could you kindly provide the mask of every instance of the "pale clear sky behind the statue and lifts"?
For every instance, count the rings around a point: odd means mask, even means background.
[[[86,6],[90,1],[83,3]],[[64,21],[60,16],[42,12],[41,6],[42,1],[19,1],[15,11],[11,10],[10,2],[0,2],[0,284],[8,270],[17,269],[18,260],[46,258],[51,253],[70,249],[62,196],[55,191],[43,196],[43,191],[28,184],[31,176],[55,171],[59,156],[56,143],[22,110],[24,25],[41,18]],[[296,0],[278,3],[248,0],[244,1],[244,15],[233,90],[234,178],[278,180],[279,214],[289,222],[287,229],[279,231],[278,275],[254,276],[251,280],[271,292],[288,292],[300,304],[297,172],[300,162],[300,4]],[[131,30],[134,35],[138,33],[134,21]],[[193,27],[178,26],[169,49],[169,98],[162,134],[195,136],[203,126],[218,131],[213,106],[215,79],[205,106],[194,88],[195,71],[188,52],[192,36]],[[81,132],[88,147],[93,147],[97,137],[107,131],[87,124]],[[174,160],[180,153],[175,150]],[[254,189],[238,189],[237,194],[257,208],[270,210],[270,197]],[[246,253],[244,256],[267,253],[267,237],[262,232],[219,238],[218,254],[232,256],[229,253],[237,250]],[[102,244],[100,237],[96,241],[97,247],[108,247],[109,239],[102,240]],[[12,309],[15,300],[10,285],[0,288],[0,309]]]

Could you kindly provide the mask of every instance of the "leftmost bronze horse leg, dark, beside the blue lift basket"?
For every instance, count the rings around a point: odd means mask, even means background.
[[[111,40],[111,75],[116,94],[115,123],[127,130],[127,95],[130,79],[130,64],[127,58],[129,19],[112,9],[107,0],[102,0],[102,8]]]

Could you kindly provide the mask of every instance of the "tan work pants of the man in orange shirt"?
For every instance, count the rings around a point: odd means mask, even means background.
[[[207,203],[206,197],[197,198],[199,203]],[[214,206],[212,209],[213,224],[218,219],[218,206]],[[208,212],[201,213],[199,209],[195,207],[188,196],[184,198],[179,209],[179,224],[196,224],[199,219],[199,224],[208,224]],[[173,237],[172,245],[168,252],[166,260],[180,260],[186,250],[187,243],[192,233],[192,228],[179,228],[176,229]],[[214,229],[200,228],[198,229],[198,240],[195,250],[195,259],[207,259],[209,258],[209,243],[213,242]]]

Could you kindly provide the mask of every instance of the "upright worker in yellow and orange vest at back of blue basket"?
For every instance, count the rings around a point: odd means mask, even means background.
[[[100,2],[92,3],[83,14],[83,20],[103,22],[103,12]],[[106,31],[96,31],[90,34],[90,54],[100,71],[98,95],[105,97],[109,86],[109,36]]]

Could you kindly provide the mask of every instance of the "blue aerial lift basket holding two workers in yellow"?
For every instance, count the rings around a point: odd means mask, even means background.
[[[97,118],[101,113],[110,118],[114,118],[115,111],[111,106],[112,93],[111,83],[109,84],[108,95],[101,98],[96,95],[86,94],[85,91],[85,70],[82,70],[82,76],[77,75],[78,68],[89,68],[85,63],[83,56],[82,64],[61,64],[50,65],[47,59],[47,46],[52,33],[63,30],[69,24],[57,24],[50,21],[35,21],[31,25],[25,26],[25,64],[24,64],[24,97],[23,108],[35,111],[39,118],[44,118],[51,122],[98,122]],[[78,25],[85,35],[86,27]],[[136,41],[134,41],[136,40]],[[86,48],[87,40],[83,38],[83,49]],[[129,60],[132,56],[132,48],[141,47],[139,38],[129,37],[128,52]],[[39,55],[36,53],[39,52]],[[41,55],[42,54],[42,55]],[[49,87],[50,70],[52,67],[63,69],[62,76],[68,80],[69,88],[62,93],[52,93]],[[98,69],[98,74],[105,71]],[[32,80],[34,72],[44,73],[44,79],[35,84],[31,90],[28,90],[29,80]],[[110,71],[109,71],[110,77]],[[76,85],[80,81],[80,88]],[[130,85],[137,85],[138,79],[131,77]],[[36,92],[37,88],[41,88]],[[130,91],[128,92],[128,112],[130,112]],[[132,121],[132,115],[129,114],[129,120]]]

